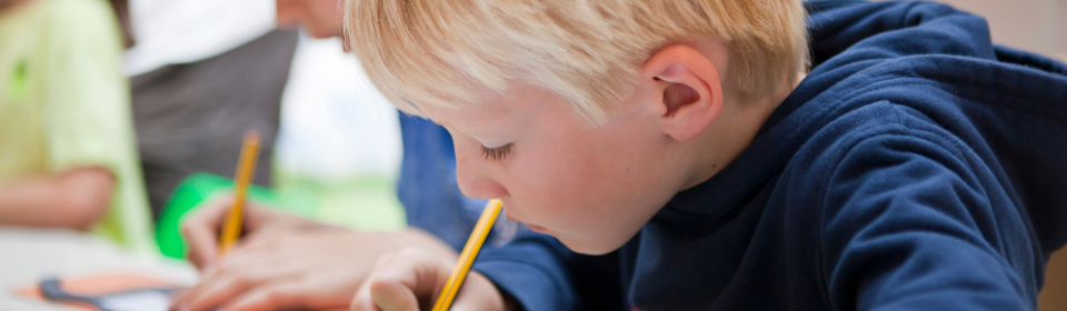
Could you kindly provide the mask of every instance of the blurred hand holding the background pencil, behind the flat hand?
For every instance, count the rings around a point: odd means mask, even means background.
[[[219,232],[233,205],[233,195],[220,195],[207,201],[203,208],[181,224],[181,234],[189,245],[187,258],[198,269],[216,261],[219,249]],[[276,234],[291,230],[319,230],[336,228],[287,212],[259,207],[251,201],[245,204],[245,237],[241,242],[256,239],[257,235]],[[271,233],[273,232],[273,233]]]

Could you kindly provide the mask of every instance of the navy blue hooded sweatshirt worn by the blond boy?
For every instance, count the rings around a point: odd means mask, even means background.
[[[814,69],[721,172],[610,255],[529,235],[476,269],[528,310],[1035,310],[1067,67],[944,4],[807,6]]]

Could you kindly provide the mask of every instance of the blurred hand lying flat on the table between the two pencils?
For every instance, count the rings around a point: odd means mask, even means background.
[[[277,231],[269,231],[277,232]],[[202,269],[176,310],[290,310],[347,308],[375,261],[402,248],[419,248],[441,261],[457,254],[419,230],[352,232],[290,230],[250,237]]]

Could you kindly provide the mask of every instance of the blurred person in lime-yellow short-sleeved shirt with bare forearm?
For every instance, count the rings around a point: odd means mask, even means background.
[[[0,224],[153,252],[122,47],[107,1],[0,2]]]

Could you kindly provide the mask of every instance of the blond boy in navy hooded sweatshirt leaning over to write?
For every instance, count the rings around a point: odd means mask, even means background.
[[[802,79],[799,1],[346,11],[370,80],[452,134],[463,193],[618,249],[628,309],[1036,309],[1067,241],[1067,67],[937,3],[808,9]],[[485,252],[453,309],[574,308],[555,245]],[[426,309],[451,268],[382,258],[352,310]]]

